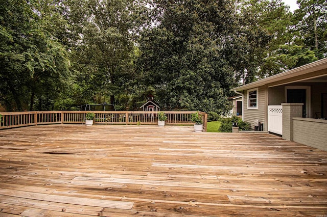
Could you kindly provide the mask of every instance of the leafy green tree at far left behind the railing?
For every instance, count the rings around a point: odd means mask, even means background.
[[[38,1],[1,1],[0,76],[1,100],[7,111],[33,110],[35,96],[39,110],[62,91],[69,72],[67,52],[48,30],[51,14],[45,16]],[[29,106],[30,105],[30,106]]]

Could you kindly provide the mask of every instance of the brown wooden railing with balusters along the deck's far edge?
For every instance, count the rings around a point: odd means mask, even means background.
[[[49,112],[10,112],[1,113],[0,129],[40,124],[84,124],[86,113],[95,113],[95,124],[157,124],[158,112],[101,112],[101,111],[49,111]],[[167,125],[193,125],[191,116],[195,112],[164,112]],[[199,112],[206,131],[207,114]]]

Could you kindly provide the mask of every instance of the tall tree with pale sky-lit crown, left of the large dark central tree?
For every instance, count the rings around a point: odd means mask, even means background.
[[[92,82],[89,90],[93,90],[93,97],[110,96],[110,103],[115,104],[115,96],[124,94],[133,78],[133,36],[147,23],[140,19],[146,2],[98,0],[79,4],[71,6],[84,15],[80,23],[75,23],[81,31],[80,42],[73,50],[77,60],[74,66],[78,67],[75,69]],[[72,14],[79,17],[81,13]]]

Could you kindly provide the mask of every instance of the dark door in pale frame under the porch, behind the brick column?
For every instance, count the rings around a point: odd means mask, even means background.
[[[310,118],[310,86],[286,86],[286,102],[288,103],[303,103],[302,117]]]

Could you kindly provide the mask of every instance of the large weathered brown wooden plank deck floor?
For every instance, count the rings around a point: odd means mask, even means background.
[[[264,133],[0,131],[0,216],[326,216],[327,152]]]

